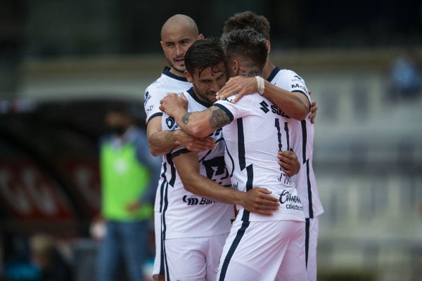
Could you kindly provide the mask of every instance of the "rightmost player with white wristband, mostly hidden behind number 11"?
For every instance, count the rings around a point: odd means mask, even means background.
[[[257,15],[250,11],[236,13],[226,20],[224,23],[223,32],[231,32],[236,29],[253,28],[260,32],[262,36],[267,39],[269,43],[270,25],[263,15]],[[264,77],[267,81],[264,82],[263,95],[270,98],[276,105],[287,115],[293,117],[296,112],[291,108],[291,103],[288,99],[304,98],[306,91],[305,81],[298,74],[290,70],[281,70],[276,67],[267,56],[267,62],[264,67]],[[221,98],[231,96],[237,91],[241,93],[235,98],[238,100],[247,93],[255,93],[257,91],[257,83],[255,79],[244,77],[234,77],[235,80],[229,81],[227,87],[223,87],[219,94]],[[274,86],[273,86],[274,84]],[[312,110],[311,110],[312,111]],[[314,105],[314,112],[316,105]],[[307,280],[316,281],[316,244],[319,232],[319,215],[324,212],[324,209],[319,199],[318,189],[314,176],[314,169],[312,166],[313,159],[313,142],[314,142],[314,112],[310,112],[306,119],[301,121],[292,119],[292,130],[295,138],[292,140],[292,149],[300,159],[302,167],[297,175],[293,176],[293,181],[296,183],[300,200],[302,201],[305,220],[306,220],[306,258],[307,258]]]

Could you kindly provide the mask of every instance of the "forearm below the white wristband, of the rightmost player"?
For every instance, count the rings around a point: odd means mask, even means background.
[[[309,113],[309,100],[302,93],[293,93],[265,81],[264,97],[293,119],[303,120]]]

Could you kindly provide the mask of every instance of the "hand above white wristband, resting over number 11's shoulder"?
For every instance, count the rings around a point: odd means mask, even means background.
[[[257,79],[255,77],[236,76],[231,77],[229,81],[217,92],[217,100],[229,98],[235,93],[238,93],[236,98],[232,101],[240,100],[245,95],[256,93],[258,91]]]

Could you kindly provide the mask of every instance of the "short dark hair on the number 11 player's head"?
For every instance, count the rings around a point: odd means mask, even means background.
[[[264,70],[268,53],[267,39],[256,30],[232,30],[224,33],[221,46],[226,59],[247,60],[252,65],[259,67],[261,71]]]

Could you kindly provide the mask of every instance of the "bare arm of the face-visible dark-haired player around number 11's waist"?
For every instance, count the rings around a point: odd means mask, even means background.
[[[257,214],[271,215],[279,209],[279,200],[272,197],[267,188],[253,188],[248,192],[225,188],[215,181],[199,174],[199,162],[196,152],[188,152],[173,158],[177,173],[184,184],[184,188],[196,195],[225,202],[238,204],[248,211]]]

